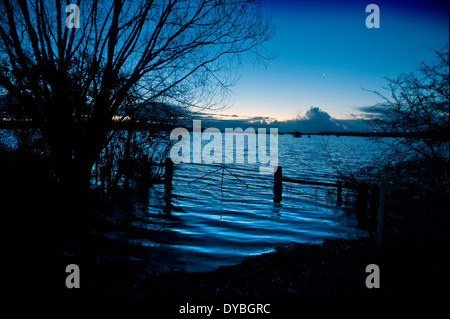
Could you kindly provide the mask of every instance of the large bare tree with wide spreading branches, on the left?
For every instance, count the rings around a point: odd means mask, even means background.
[[[0,4],[0,88],[41,131],[60,181],[83,187],[131,89],[142,107],[208,107],[272,33],[252,0],[77,0],[79,28],[68,4]]]

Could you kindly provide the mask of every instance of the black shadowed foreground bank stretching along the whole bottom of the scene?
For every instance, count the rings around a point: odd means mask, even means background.
[[[86,197],[64,198],[38,183],[2,183],[3,294],[14,299],[297,300],[448,299],[446,239],[369,239],[294,244],[240,264],[203,273],[152,274],[149,248],[127,242],[133,219]],[[48,203],[52,203],[49,205]],[[117,209],[113,211],[117,212]],[[126,209],[123,209],[125,212]],[[120,240],[107,234],[121,234]],[[145,236],[145,233],[139,234]],[[68,289],[68,264],[80,267],[80,288]],[[365,285],[368,264],[380,268],[379,289]],[[295,301],[293,301],[295,302]]]

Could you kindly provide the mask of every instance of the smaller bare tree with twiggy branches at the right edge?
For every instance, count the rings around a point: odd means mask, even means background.
[[[436,60],[422,62],[418,72],[387,79],[383,102],[366,110],[365,119],[379,132],[402,133],[387,138],[385,172],[414,182],[447,187],[449,175],[449,51],[435,50]],[[418,180],[420,179],[420,180]]]

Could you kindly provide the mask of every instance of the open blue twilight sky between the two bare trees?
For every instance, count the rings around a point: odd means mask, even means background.
[[[218,113],[287,120],[311,106],[338,119],[350,118],[379,98],[383,77],[430,61],[430,48],[448,42],[444,1],[261,0],[276,34],[266,45],[277,53],[268,66],[246,64],[232,105]],[[380,8],[380,28],[368,29],[368,4]]]

